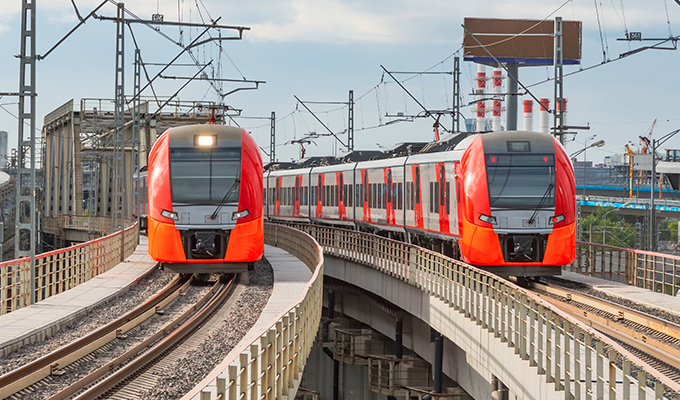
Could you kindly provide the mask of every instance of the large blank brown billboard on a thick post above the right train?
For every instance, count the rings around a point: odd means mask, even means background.
[[[501,63],[553,64],[553,20],[465,18],[464,26],[467,29],[463,37],[465,61],[496,65],[495,57]],[[581,21],[562,21],[562,35],[563,63],[579,64]]]

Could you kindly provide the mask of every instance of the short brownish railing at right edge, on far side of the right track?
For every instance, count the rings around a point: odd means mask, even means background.
[[[576,259],[566,270],[675,296],[680,290],[680,256],[576,242]]]

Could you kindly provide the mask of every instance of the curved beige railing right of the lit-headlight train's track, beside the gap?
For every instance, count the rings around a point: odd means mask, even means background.
[[[226,368],[183,399],[294,397],[292,389],[300,381],[321,321],[323,252],[311,236],[283,225],[265,224],[265,243],[297,257],[312,271],[312,278],[295,306],[272,318],[255,341],[232,350],[221,364]]]

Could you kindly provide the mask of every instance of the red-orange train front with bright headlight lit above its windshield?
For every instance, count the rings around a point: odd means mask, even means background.
[[[262,159],[241,128],[170,128],[149,154],[149,254],[180,273],[252,268],[262,258]]]

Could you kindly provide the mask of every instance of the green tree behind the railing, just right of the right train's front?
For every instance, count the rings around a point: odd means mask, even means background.
[[[584,240],[609,246],[633,248],[635,228],[621,218],[617,210],[616,207],[598,207],[594,214],[588,214],[581,219]]]

